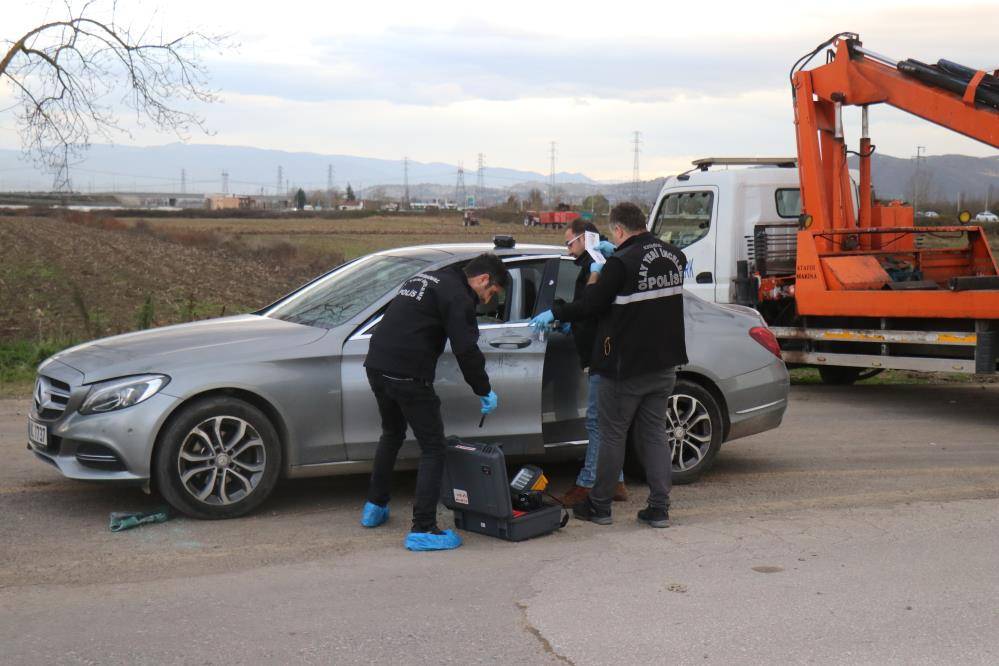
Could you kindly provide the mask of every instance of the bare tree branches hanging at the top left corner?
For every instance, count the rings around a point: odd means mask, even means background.
[[[103,8],[103,11],[101,11]],[[225,35],[186,32],[173,38],[140,30],[116,17],[117,6],[99,0],[65,0],[62,20],[44,23],[18,39],[0,41],[0,80],[16,93],[18,129],[25,152],[40,166],[65,169],[90,145],[128,134],[121,107],[140,126],[181,138],[204,120],[191,102],[214,102],[201,63],[205,49],[221,49]]]

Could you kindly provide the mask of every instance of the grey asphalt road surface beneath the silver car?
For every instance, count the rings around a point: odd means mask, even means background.
[[[670,529],[632,484],[612,526],[446,553],[402,548],[408,473],[377,530],[340,478],[112,534],[155,498],[36,461],[26,409],[0,401],[0,662],[999,661],[999,387],[794,387],[780,429],[674,490]]]

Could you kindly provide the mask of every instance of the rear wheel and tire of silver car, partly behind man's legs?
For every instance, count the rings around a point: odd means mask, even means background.
[[[672,449],[673,484],[693,483],[711,468],[721,449],[725,429],[721,406],[717,398],[700,384],[680,379],[667,403],[666,418],[670,424],[667,442]],[[677,428],[685,430],[680,438],[676,436]],[[679,450],[678,443],[682,443]],[[645,480],[645,468],[630,434],[624,473],[633,479]]]

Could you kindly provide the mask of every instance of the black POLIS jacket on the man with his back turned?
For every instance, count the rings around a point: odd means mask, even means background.
[[[597,317],[591,372],[628,379],[687,363],[686,264],[679,248],[641,233],[621,243],[581,300],[552,307],[560,321]]]

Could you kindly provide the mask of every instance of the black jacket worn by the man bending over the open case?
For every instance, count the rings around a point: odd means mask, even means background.
[[[437,359],[450,340],[465,381],[476,395],[488,395],[489,375],[475,321],[478,300],[460,268],[414,275],[375,328],[364,367],[433,382]]]

